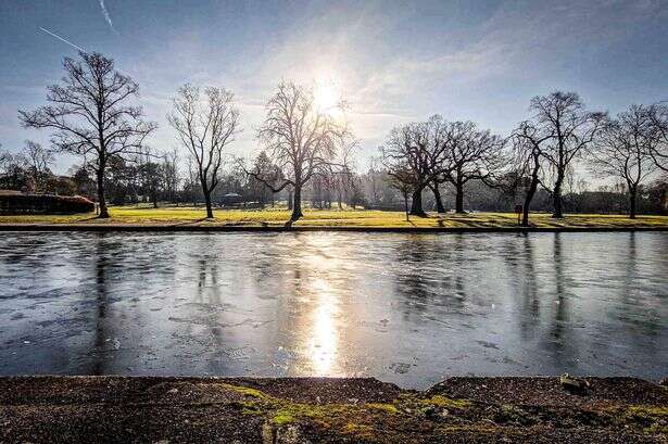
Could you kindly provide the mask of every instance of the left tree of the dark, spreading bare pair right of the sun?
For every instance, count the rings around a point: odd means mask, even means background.
[[[427,122],[395,127],[380,148],[386,167],[390,172],[405,172],[413,176],[411,214],[426,217],[423,191],[439,177],[449,173],[448,123],[439,115]]]

